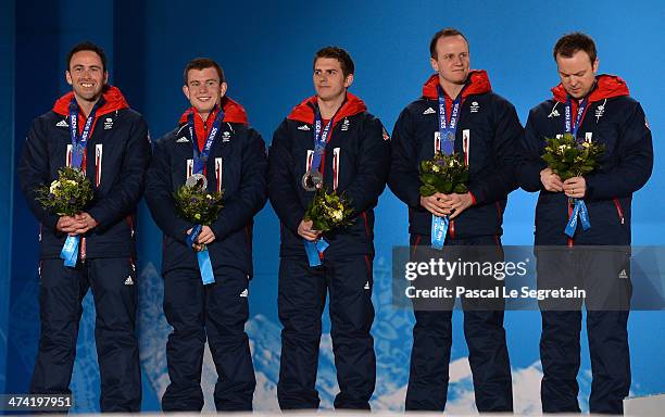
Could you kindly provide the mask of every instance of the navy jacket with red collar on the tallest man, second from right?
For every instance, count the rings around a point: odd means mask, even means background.
[[[388,185],[409,205],[409,231],[429,236],[432,215],[421,206],[421,162],[431,160],[439,134],[438,75],[423,86],[423,97],[409,104],[392,130],[392,166]],[[469,169],[468,189],[474,204],[450,222],[448,236],[464,239],[501,236],[507,194],[517,188],[514,166],[523,135],[515,108],[491,90],[485,71],[472,71],[462,90],[455,131],[455,153]],[[446,94],[447,116],[452,99]]]

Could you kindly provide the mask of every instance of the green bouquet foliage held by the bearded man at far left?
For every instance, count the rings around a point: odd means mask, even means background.
[[[74,216],[92,201],[92,184],[83,170],[70,166],[58,169],[58,179],[50,186],[39,186],[35,191],[41,206],[59,216]]]

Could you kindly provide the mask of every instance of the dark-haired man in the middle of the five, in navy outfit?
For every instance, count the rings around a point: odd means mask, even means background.
[[[369,409],[376,379],[369,334],[373,208],[386,185],[390,142],[379,119],[347,91],[354,74],[347,51],[323,48],[313,66],[316,96],[279,125],[269,152],[268,195],[281,223],[277,304],[284,329],[277,397],[283,409],[318,407],[321,316],[329,291],[340,388],[335,407]],[[317,181],[344,195],[354,218],[351,226],[323,236],[329,243],[319,254],[323,265],[311,267],[304,242],[316,241],[322,232],[303,217]]]

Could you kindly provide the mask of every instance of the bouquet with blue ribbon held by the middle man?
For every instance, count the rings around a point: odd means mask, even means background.
[[[328,192],[323,187],[316,189],[314,199],[308,206],[304,215],[305,222],[312,222],[314,230],[329,231],[340,227],[351,225],[353,208],[350,206],[350,201],[336,191]],[[310,266],[319,266],[321,256],[328,243],[319,238],[315,242],[304,241],[305,253],[310,262]]]

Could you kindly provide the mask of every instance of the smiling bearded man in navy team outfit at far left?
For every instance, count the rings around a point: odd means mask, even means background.
[[[30,392],[71,393],[81,301],[92,289],[102,412],[138,412],[141,371],[135,334],[138,287],[135,214],[150,160],[148,126],[121,91],[106,84],[106,56],[90,42],[67,54],[71,92],[37,117],[18,165],[21,188],[41,224],[39,353]],[[45,211],[36,188],[80,167],[95,198],[75,216]],[[79,237],[74,267],[63,265],[67,236]]]

